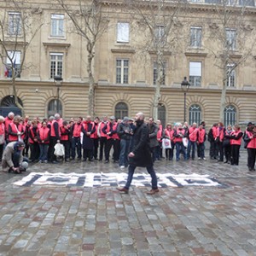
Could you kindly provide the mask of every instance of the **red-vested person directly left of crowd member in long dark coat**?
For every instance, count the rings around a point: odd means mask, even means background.
[[[82,132],[82,117],[79,117],[71,126],[70,137],[71,137],[71,159],[74,160],[76,157],[76,149],[78,160],[82,158],[82,146],[81,146],[81,132]]]

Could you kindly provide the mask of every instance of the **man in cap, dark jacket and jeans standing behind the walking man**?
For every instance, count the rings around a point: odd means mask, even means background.
[[[125,116],[123,121],[118,125],[117,133],[120,138],[120,155],[119,155],[119,166],[120,169],[124,169],[128,166],[128,154],[131,143],[131,136],[133,131],[131,129],[129,117]]]

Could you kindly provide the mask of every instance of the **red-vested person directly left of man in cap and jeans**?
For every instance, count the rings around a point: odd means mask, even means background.
[[[113,162],[119,162],[119,136],[117,133],[118,123],[115,117],[111,116],[109,122],[103,127],[102,132],[107,136],[107,145],[105,148],[105,163],[109,163],[109,154],[113,146]]]

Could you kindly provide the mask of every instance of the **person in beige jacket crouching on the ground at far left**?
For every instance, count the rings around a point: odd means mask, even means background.
[[[3,172],[25,172],[28,166],[27,159],[23,158],[22,151],[25,148],[23,142],[9,143],[3,151]]]

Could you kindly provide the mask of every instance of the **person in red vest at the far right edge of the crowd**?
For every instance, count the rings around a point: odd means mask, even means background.
[[[244,137],[247,144],[247,166],[250,172],[255,171],[255,158],[256,158],[256,126],[250,125]]]

